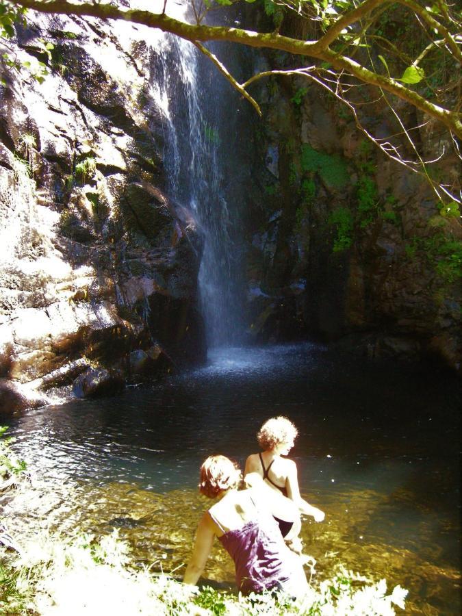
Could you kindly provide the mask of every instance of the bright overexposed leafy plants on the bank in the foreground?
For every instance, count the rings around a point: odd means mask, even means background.
[[[41,531],[35,539],[24,541],[22,552],[7,564],[2,562],[0,548],[0,579],[7,585],[0,594],[2,613],[13,607],[16,612],[10,613],[30,615],[60,610],[113,616],[385,616],[394,613],[392,606],[404,609],[407,595],[400,586],[387,593],[385,580],[372,582],[345,569],[310,587],[307,596],[298,601],[274,592],[243,597],[210,587],[199,591],[168,575],[136,567],[128,544],[120,541],[116,531],[100,541],[92,535],[63,538]]]

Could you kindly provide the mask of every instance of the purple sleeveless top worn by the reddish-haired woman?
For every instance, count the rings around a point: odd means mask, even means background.
[[[283,589],[294,576],[293,554],[284,543],[281,531],[272,515],[262,515],[236,530],[218,537],[235,564],[236,585],[248,594],[268,589]],[[301,566],[301,565],[300,565]]]

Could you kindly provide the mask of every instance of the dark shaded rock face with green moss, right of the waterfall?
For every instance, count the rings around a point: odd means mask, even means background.
[[[281,55],[267,62],[287,68]],[[460,216],[441,215],[426,181],[363,139],[308,81],[274,81],[257,99],[265,123],[255,184],[264,196],[247,221],[253,339],[310,335],[368,357],[437,358],[460,372]],[[378,103],[368,122],[396,132]],[[422,151],[435,158],[435,136],[423,130]],[[439,173],[457,192],[460,161],[446,153]]]

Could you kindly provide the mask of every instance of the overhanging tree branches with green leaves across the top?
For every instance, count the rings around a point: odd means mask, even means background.
[[[161,29],[194,43],[259,114],[259,104],[249,92],[257,79],[278,74],[306,77],[348,105],[359,129],[386,155],[424,175],[439,200],[461,203],[457,181],[451,184],[436,182],[428,173],[428,164],[442,157],[449,146],[461,158],[462,19],[454,5],[446,0],[433,0],[431,5],[422,0],[263,0],[266,12],[273,18],[273,31],[257,32],[204,23],[211,8],[231,5],[234,1],[238,0],[217,0],[216,3],[190,0],[194,23],[186,23],[166,14],[167,0],[160,13],[123,8],[117,1],[0,0],[0,24],[3,24],[4,36],[11,36],[15,16],[22,18],[23,9],[30,9],[131,21]],[[296,14],[296,18],[307,25],[304,30],[309,36],[298,38],[280,34],[281,24],[290,14]],[[406,38],[406,32],[398,36],[397,23],[409,27],[411,40],[409,36]],[[239,83],[205,47],[207,41],[284,51],[294,58],[294,66],[251,75],[244,83]],[[296,66],[296,61],[301,66]],[[376,89],[378,97],[383,98],[396,117],[399,135],[378,138],[371,133],[359,114],[354,95],[358,84]],[[394,97],[418,110],[421,118],[416,127],[407,126],[400,118]],[[433,161],[422,158],[414,137],[415,131],[426,123],[439,125],[447,135],[446,140],[441,140],[440,151],[435,153]],[[402,138],[411,148],[410,156],[403,153]]]

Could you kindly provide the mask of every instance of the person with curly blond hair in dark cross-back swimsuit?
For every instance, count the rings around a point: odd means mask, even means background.
[[[316,522],[322,522],[324,511],[300,496],[296,463],[285,458],[294,446],[297,435],[297,428],[286,417],[272,417],[266,421],[257,433],[257,440],[263,452],[251,454],[247,458],[244,481],[248,474],[258,474],[273,490],[292,500],[299,513],[311,515]],[[292,509],[287,509],[281,517],[276,517],[276,521],[283,537],[292,541],[294,550],[300,552],[301,544],[293,536],[294,526],[299,525],[299,515],[294,519]]]

